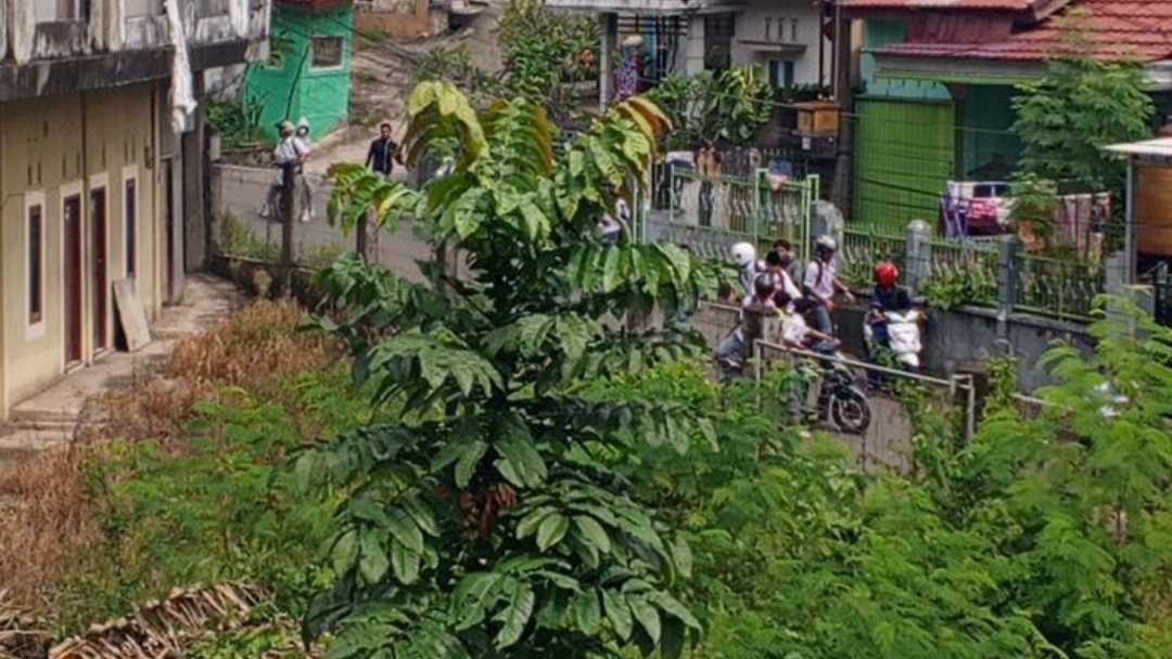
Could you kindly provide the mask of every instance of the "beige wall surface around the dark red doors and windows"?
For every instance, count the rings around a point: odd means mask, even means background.
[[[64,262],[62,205],[82,197],[82,353],[94,361],[93,234],[90,193],[107,190],[107,282],[125,276],[127,177],[137,177],[137,282],[149,316],[159,309],[162,260],[157,205],[156,123],[152,84],[84,95],[0,104],[0,414],[62,375],[64,364]],[[84,144],[84,147],[83,147]],[[28,315],[28,220],[43,200],[45,313]],[[108,343],[114,342],[114,293],[107,290]],[[100,358],[100,357],[98,357]]]

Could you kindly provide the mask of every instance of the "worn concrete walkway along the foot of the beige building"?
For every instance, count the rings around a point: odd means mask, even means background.
[[[94,397],[150,377],[166,363],[179,339],[211,329],[243,303],[231,282],[190,276],[183,302],[164,307],[151,324],[149,345],[134,353],[111,352],[12,409],[8,423],[0,426],[0,469],[73,441],[86,424],[100,420],[88,405]]]

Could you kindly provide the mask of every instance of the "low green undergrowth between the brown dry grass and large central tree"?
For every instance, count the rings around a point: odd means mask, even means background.
[[[225,396],[197,404],[182,452],[122,441],[91,462],[101,537],[79,557],[59,598],[55,613],[67,631],[195,583],[263,584],[287,611],[302,610],[332,583],[313,567],[331,497],[299,494],[285,464],[305,438],[353,427],[369,407],[340,369],[274,383],[260,397]]]

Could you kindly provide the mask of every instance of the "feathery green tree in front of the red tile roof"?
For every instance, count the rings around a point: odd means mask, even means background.
[[[1104,146],[1150,137],[1154,114],[1147,74],[1138,62],[1108,62],[1086,48],[1086,12],[1064,26],[1067,55],[1047,74],[1020,87],[1016,132],[1024,143],[1027,173],[1057,181],[1064,193],[1101,192],[1122,198],[1124,163]]]

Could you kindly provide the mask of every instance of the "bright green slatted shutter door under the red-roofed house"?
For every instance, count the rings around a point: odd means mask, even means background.
[[[915,219],[935,226],[956,170],[953,103],[861,98],[854,137],[854,222],[902,235]]]

